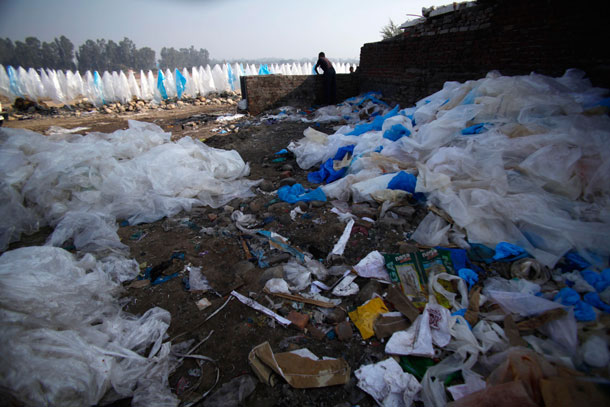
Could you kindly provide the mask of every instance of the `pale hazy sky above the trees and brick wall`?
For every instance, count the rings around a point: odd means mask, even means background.
[[[0,0],[0,37],[120,41],[138,48],[205,48],[213,59],[359,58],[422,6],[450,0]]]

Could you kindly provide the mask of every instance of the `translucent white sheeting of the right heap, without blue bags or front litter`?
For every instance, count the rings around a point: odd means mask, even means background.
[[[492,72],[447,82],[399,111],[411,121],[409,137],[391,141],[383,129],[348,136],[353,127],[344,126],[333,135],[309,131],[289,149],[311,168],[356,145],[347,175],[323,186],[331,198],[374,199],[387,185],[383,173],[418,174],[415,192],[454,222],[451,230],[422,225],[415,236],[435,235],[435,244],[442,233],[451,240],[466,232],[470,243],[511,242],[548,266],[571,249],[596,264],[596,255],[610,255],[610,118],[586,111],[607,95],[578,70],[559,78]],[[463,132],[473,125],[483,131]]]

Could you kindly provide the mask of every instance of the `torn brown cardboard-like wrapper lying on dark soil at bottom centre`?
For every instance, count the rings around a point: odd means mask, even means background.
[[[308,356],[303,356],[307,354]],[[297,389],[346,384],[350,367],[343,359],[313,359],[311,352],[273,353],[269,342],[256,346],[248,355],[248,362],[256,376],[271,386],[277,383],[275,374]]]

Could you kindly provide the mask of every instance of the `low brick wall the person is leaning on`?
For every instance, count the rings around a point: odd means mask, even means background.
[[[322,104],[322,75],[263,75],[242,76],[242,97],[248,99],[248,112],[259,114],[280,106],[310,107]],[[359,93],[358,80],[353,74],[337,74],[337,100]]]

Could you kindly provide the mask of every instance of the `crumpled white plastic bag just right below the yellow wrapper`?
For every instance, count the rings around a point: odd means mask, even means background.
[[[424,312],[406,331],[395,332],[385,347],[391,355],[434,356],[433,344],[445,347],[451,340],[447,308],[438,304],[427,304]]]

